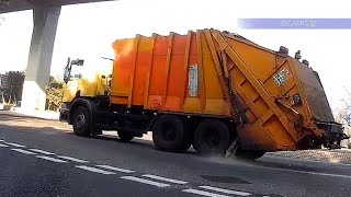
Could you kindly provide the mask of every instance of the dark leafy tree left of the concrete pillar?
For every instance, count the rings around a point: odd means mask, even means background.
[[[22,97],[22,90],[24,83],[24,72],[23,71],[8,71],[4,73],[3,80],[5,81],[5,86],[3,86],[3,94],[9,103],[15,104],[18,100]]]

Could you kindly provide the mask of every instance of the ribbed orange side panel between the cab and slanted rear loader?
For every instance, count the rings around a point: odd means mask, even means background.
[[[224,100],[223,86],[203,33],[136,36],[135,39],[117,40],[114,48],[112,103],[139,105],[145,109],[230,116],[230,104]],[[190,66],[197,67],[196,95],[189,94]]]

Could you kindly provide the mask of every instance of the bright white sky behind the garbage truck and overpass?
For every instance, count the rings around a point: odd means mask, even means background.
[[[52,62],[59,76],[68,57],[111,57],[112,43],[136,34],[184,34],[188,30],[218,28],[267,48],[301,50],[319,72],[335,108],[351,90],[349,61],[351,30],[242,30],[239,18],[351,18],[348,0],[120,0],[63,7]],[[0,14],[0,72],[24,70],[31,44],[32,11]]]

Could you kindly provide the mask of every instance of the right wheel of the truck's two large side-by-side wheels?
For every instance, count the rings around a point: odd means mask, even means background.
[[[224,155],[230,143],[230,131],[226,124],[206,119],[197,126],[193,147],[201,155]]]

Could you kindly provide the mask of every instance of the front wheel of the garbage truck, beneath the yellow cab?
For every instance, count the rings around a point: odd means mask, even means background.
[[[81,136],[81,137],[90,136],[89,118],[90,118],[90,115],[87,107],[79,106],[76,109],[72,126],[73,126],[73,131],[77,136]]]

